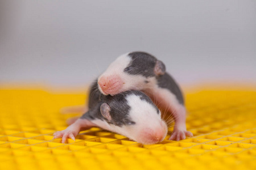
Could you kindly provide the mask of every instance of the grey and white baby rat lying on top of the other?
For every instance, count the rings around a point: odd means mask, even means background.
[[[170,140],[179,141],[193,136],[185,125],[186,110],[179,86],[166,73],[164,63],[151,54],[132,52],[118,57],[98,77],[98,88],[104,95],[116,95],[127,90],[144,92],[162,113],[166,111],[174,116],[174,131]]]

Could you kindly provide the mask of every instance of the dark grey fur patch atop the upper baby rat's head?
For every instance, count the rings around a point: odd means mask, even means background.
[[[144,52],[133,52],[129,53],[128,56],[131,57],[131,62],[123,70],[125,73],[141,74],[146,78],[155,76],[154,68],[157,59],[154,56]]]

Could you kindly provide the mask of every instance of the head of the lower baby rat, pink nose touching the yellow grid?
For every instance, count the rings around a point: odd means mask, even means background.
[[[101,104],[101,114],[108,122],[108,130],[125,135],[142,144],[162,142],[167,125],[159,109],[140,91],[127,91],[109,96]]]

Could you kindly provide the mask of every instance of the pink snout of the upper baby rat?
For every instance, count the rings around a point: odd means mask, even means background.
[[[105,95],[115,95],[120,92],[123,82],[118,75],[102,76],[98,80],[98,85]]]

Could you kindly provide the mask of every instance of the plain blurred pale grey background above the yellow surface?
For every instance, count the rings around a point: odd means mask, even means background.
[[[83,86],[135,50],[181,86],[256,81],[256,1],[0,0],[0,83]]]

